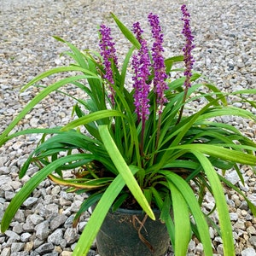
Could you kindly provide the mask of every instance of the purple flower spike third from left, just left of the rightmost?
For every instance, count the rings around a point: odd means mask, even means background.
[[[159,113],[162,112],[164,103],[166,102],[165,90],[168,89],[166,84],[166,65],[163,56],[163,37],[161,33],[160,21],[158,15],[150,13],[148,15],[148,21],[151,26],[152,36],[154,38],[154,44],[152,47],[153,69],[154,69],[154,92],[157,95],[157,104],[159,105]]]

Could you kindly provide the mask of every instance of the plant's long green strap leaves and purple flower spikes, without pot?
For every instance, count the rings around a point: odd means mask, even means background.
[[[52,74],[79,74],[45,86],[0,136],[0,145],[3,145],[21,135],[43,134],[19,176],[23,177],[32,163],[38,166],[38,172],[10,202],[1,223],[2,232],[8,229],[26,197],[49,177],[54,183],[69,187],[68,191],[89,195],[77,212],[74,224],[84,211],[94,207],[73,255],[85,255],[107,214],[122,208],[143,212],[143,219],[134,217],[137,225],[133,225],[135,229],[137,227],[142,243],[151,248],[148,255],[163,255],[154,254],[150,241],[142,235],[143,230],[149,229],[146,222],[152,219],[154,223],[156,218],[165,225],[175,255],[185,255],[192,235],[202,242],[205,255],[212,255],[208,232],[211,218],[201,209],[208,191],[218,211],[224,254],[235,255],[224,186],[243,196],[253,215],[256,215],[256,208],[219,171],[224,173],[235,168],[243,182],[239,165],[256,165],[256,144],[236,127],[219,123],[215,118],[236,115],[255,121],[255,116],[229,104],[228,95],[203,79],[201,74],[192,73],[194,44],[189,12],[185,5],[181,9],[186,39],[183,56],[164,59],[159,17],[152,13],[148,15],[154,40],[152,47],[143,38],[138,22],[131,32],[112,14],[120,31],[131,42],[131,49],[122,64],[118,62],[108,26],[101,25],[99,29],[100,53],[80,51],[73,44],[55,37],[71,49],[64,54],[74,63],[38,75],[22,90]],[[184,68],[174,69],[177,62],[183,63]],[[127,88],[125,80],[129,67],[133,73],[131,89]],[[174,71],[183,76],[171,79],[170,74]],[[83,90],[84,98],[61,91],[66,84]],[[73,97],[77,102],[73,114],[77,118],[62,127],[11,133],[20,119],[52,91]],[[248,101],[245,96],[253,93],[255,90],[231,94],[255,107],[255,102]],[[186,111],[190,102],[200,99],[205,101],[201,108],[195,113]],[[72,179],[63,177],[67,170],[73,170]],[[154,237],[156,235],[154,233]],[[136,252],[137,247],[133,247],[133,251]]]

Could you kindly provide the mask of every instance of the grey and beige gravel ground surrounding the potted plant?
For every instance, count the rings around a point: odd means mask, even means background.
[[[118,35],[112,11],[127,26],[139,20],[147,23],[150,11],[160,15],[165,33],[166,55],[182,54],[182,21],[179,8],[181,0],[1,0],[0,9],[0,132],[17,112],[38,91],[28,90],[19,95],[20,87],[38,73],[61,66],[66,60],[60,57],[63,49],[53,35],[65,38],[79,49],[97,49],[96,26],[107,23],[113,27],[113,37]],[[191,0],[188,1],[191,25],[195,35],[195,70],[204,73],[225,91],[255,88],[255,13],[256,3],[241,0]],[[127,49],[124,38],[117,44],[118,54]],[[55,79],[55,78],[53,78]],[[44,84],[49,80],[44,79]],[[73,88],[68,88],[69,92]],[[74,90],[73,94],[79,93]],[[256,100],[255,95],[251,100]],[[51,126],[67,123],[72,104],[64,96],[52,94],[47,101],[26,115],[20,128]],[[241,102],[237,107],[247,108]],[[256,113],[255,108],[250,108]],[[232,122],[248,137],[255,139],[255,125],[236,118],[224,118]],[[35,146],[38,137],[19,138],[0,148],[0,220],[9,201],[35,172],[31,167],[26,177],[18,179],[22,163]],[[242,166],[245,186],[238,181],[235,172],[227,178],[236,183],[256,204],[256,178],[253,172]],[[74,212],[82,203],[81,195],[67,194],[61,187],[48,180],[40,184],[24,206],[17,212],[8,231],[0,234],[0,256],[23,255],[71,255],[89,213],[81,219],[79,228],[72,229]],[[256,218],[239,195],[227,191],[230,218],[234,228],[236,255],[256,255]],[[205,207],[212,206],[207,196]],[[223,254],[221,239],[210,230],[216,255]],[[202,255],[201,243],[191,241],[188,255]],[[90,255],[96,255],[96,245]]]

